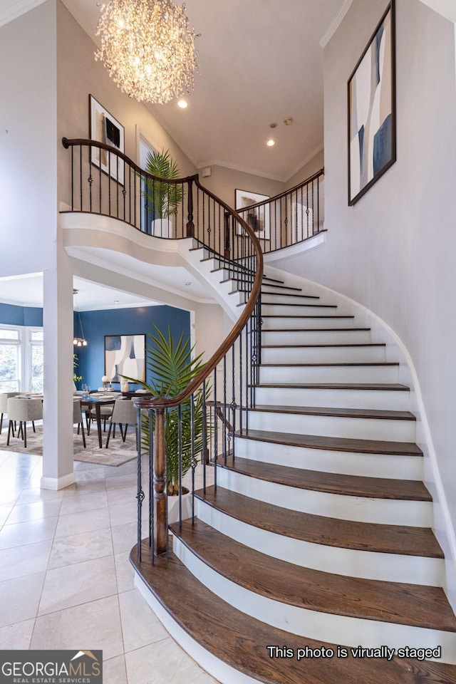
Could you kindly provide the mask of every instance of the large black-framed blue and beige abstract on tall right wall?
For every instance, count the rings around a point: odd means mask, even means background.
[[[348,79],[348,204],[396,160],[394,0]]]

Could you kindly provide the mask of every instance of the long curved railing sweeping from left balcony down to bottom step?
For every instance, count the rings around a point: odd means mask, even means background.
[[[252,227],[202,187],[197,175],[164,181],[103,143],[63,138],[63,146],[71,155],[66,211],[112,217],[161,239],[190,237],[195,247],[204,247],[205,258],[214,260],[220,279],[231,281],[243,298],[237,323],[185,389],[177,395],[164,390],[165,396],[135,400],[138,557],[153,563],[156,555],[168,550],[171,480],[177,480],[182,524],[185,463],[190,462],[194,517],[197,467],[203,489],[209,478],[217,488],[217,462],[234,458],[234,433],[248,427],[261,361],[263,254]],[[141,454],[141,445],[147,445],[146,455]],[[147,523],[142,522],[144,509]]]

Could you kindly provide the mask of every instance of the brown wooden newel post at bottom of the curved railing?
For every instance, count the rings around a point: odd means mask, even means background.
[[[166,447],[165,447],[165,409],[155,409],[154,440],[154,546],[155,555],[166,552]]]

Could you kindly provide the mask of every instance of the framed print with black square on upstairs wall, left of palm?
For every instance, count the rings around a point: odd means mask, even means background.
[[[105,145],[115,147],[119,152],[124,152],[125,128],[117,119],[111,115],[107,109],[95,100],[93,95],[88,96],[89,100],[89,137],[90,140],[104,142]],[[110,175],[120,185],[123,185],[123,161],[118,155],[100,150],[99,147],[92,147],[92,164],[98,166],[102,171]]]

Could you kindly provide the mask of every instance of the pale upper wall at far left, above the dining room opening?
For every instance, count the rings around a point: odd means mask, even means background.
[[[53,266],[55,0],[0,28],[0,276]]]

